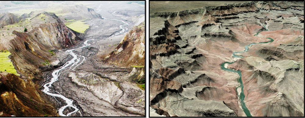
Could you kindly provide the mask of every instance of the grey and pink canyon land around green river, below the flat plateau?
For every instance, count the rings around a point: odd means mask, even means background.
[[[150,14],[150,116],[304,116],[303,5]]]

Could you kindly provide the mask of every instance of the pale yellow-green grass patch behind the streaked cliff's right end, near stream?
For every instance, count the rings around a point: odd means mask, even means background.
[[[65,23],[65,25],[76,32],[85,33],[86,29],[88,29],[90,25],[85,24],[85,22],[82,22],[82,21],[84,21],[84,20],[68,22],[68,23]]]

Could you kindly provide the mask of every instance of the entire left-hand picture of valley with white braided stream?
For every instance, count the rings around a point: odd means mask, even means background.
[[[144,2],[0,3],[0,116],[145,116]]]

